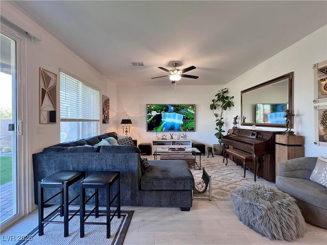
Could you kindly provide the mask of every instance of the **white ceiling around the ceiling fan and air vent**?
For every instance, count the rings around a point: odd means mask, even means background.
[[[225,84],[327,23],[326,1],[13,1],[118,85]],[[129,62],[144,62],[133,68]],[[282,75],[282,74],[281,74]]]

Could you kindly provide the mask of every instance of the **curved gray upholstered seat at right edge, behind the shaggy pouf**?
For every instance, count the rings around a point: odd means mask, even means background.
[[[327,188],[310,180],[317,157],[300,157],[278,164],[276,187],[296,199],[306,222],[327,229]]]

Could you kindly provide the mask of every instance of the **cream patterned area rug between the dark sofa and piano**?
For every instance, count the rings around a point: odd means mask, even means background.
[[[143,156],[147,157],[148,160],[153,160],[153,156]],[[198,161],[199,157],[196,157]],[[150,163],[151,164],[151,163]],[[232,161],[228,161],[228,165],[235,164]],[[211,176],[212,182],[212,201],[230,201],[230,191],[236,189],[239,186],[250,184],[252,182],[243,178],[240,174],[234,171],[229,166],[225,166],[223,163],[223,157],[220,155],[215,155],[215,157],[201,156],[201,170],[190,168],[194,176],[194,180],[197,182],[202,177],[202,167]],[[241,166],[240,166],[241,167]],[[209,197],[209,189],[203,194],[198,193],[194,190],[194,197]],[[198,199],[198,200],[208,200],[208,199]]]

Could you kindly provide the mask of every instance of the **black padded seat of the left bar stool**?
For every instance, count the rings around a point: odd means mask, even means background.
[[[71,185],[84,176],[85,174],[82,171],[60,171],[56,174],[50,175],[42,179],[41,184],[43,187],[45,187],[46,185],[63,185],[63,183],[66,181],[68,185]]]

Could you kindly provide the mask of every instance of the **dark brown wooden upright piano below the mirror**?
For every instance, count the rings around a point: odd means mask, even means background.
[[[282,131],[232,129],[231,133],[223,137],[224,149],[235,148],[252,154],[253,161],[248,162],[246,167],[252,173],[255,173],[254,168],[256,167],[259,177],[275,182],[276,134],[282,134]],[[238,163],[236,158],[231,160]]]

